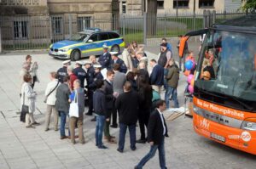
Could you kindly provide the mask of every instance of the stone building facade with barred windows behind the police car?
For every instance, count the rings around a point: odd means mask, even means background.
[[[87,27],[113,29],[118,0],[1,0],[3,45],[47,46]]]

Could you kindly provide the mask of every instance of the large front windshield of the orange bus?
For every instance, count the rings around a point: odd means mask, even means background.
[[[210,30],[202,44],[195,87],[255,104],[255,42],[255,34]]]

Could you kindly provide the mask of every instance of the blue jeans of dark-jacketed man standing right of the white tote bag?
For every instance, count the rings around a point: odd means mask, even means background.
[[[101,147],[102,144],[102,134],[103,134],[103,128],[105,124],[105,115],[96,115],[96,132],[95,132],[95,138],[96,138],[96,146]]]

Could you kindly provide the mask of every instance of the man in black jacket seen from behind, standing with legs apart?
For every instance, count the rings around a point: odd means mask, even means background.
[[[125,82],[124,91],[115,101],[115,108],[119,112],[119,148],[120,153],[125,147],[125,132],[127,127],[130,132],[131,150],[136,149],[136,123],[139,108],[139,96],[131,90],[131,82]]]

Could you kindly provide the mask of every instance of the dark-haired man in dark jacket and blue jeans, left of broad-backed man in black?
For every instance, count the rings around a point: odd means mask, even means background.
[[[106,99],[105,93],[103,92],[103,80],[96,80],[96,92],[93,94],[93,108],[96,113],[96,146],[99,149],[108,149],[102,143],[102,134],[103,134],[103,127],[105,121],[109,121],[109,118],[106,119]]]

